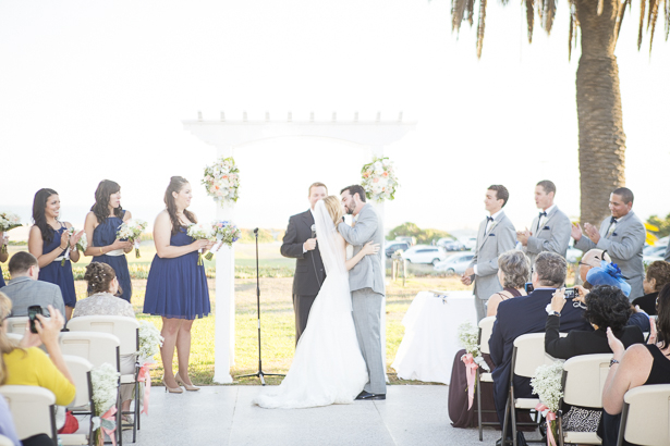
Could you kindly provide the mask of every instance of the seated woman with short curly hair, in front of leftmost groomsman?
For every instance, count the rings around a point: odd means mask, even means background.
[[[524,284],[531,275],[531,260],[522,251],[511,249],[498,257],[498,280],[502,284],[502,292],[495,293],[488,298],[486,315],[496,315],[498,305],[513,297],[525,296]]]

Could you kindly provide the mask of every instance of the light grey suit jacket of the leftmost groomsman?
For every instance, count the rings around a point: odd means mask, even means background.
[[[479,224],[475,257],[470,263],[471,268],[477,265],[474,294],[482,300],[488,300],[494,293],[502,290],[498,281],[498,256],[516,246],[516,230],[504,212],[498,215],[496,225],[488,234],[485,234],[486,222],[484,220]]]

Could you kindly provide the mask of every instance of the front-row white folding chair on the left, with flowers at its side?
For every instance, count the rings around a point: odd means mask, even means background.
[[[134,355],[139,350],[139,322],[135,318],[124,315],[83,315],[72,318],[68,322],[68,329],[72,332],[100,332],[110,333],[121,340],[119,346],[120,355]],[[135,364],[135,371],[131,374],[121,375],[121,384],[132,384],[135,387],[134,410],[119,412],[121,414],[133,414],[133,443],[136,441],[137,429],[139,429],[139,383],[137,376],[139,366]]]

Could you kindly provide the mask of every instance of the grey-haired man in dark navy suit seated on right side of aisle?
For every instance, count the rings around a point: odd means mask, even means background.
[[[496,369],[492,371],[494,400],[501,424],[504,420],[504,407],[509,394],[514,339],[527,333],[543,333],[545,331],[546,308],[551,302],[553,292],[563,286],[565,282],[568,263],[557,253],[540,252],[535,260],[533,270],[532,281],[535,289],[527,296],[500,302],[494,332],[488,343],[491,360],[496,364]],[[582,308],[565,307],[560,318],[560,331],[593,331],[583,318],[583,313]],[[519,398],[532,398],[531,380],[515,376],[514,392]],[[508,434],[511,435],[510,432]]]

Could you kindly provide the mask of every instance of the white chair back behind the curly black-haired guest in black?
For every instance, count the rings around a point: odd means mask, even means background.
[[[612,354],[581,355],[563,364],[563,401],[572,406],[602,408],[602,388]]]

